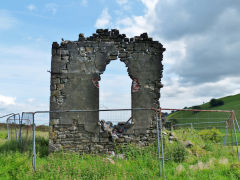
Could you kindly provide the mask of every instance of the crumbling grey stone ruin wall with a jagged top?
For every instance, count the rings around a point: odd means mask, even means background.
[[[155,113],[135,108],[159,108],[162,78],[162,44],[147,33],[127,38],[118,30],[98,29],[78,41],[53,42],[50,111],[99,110],[101,74],[112,60],[125,63],[131,86],[131,123],[120,124],[124,132],[99,121],[99,112],[50,113],[50,152],[105,153],[115,144],[147,145],[156,139]],[[117,133],[113,138],[112,133]],[[116,137],[116,134],[114,134]]]

